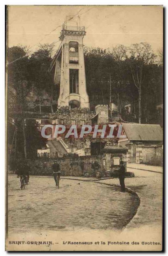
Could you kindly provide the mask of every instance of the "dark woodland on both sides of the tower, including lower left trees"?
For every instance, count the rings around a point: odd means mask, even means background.
[[[42,146],[36,125],[31,121],[24,124],[29,103],[39,106],[41,113],[45,92],[51,112],[55,110],[56,86],[53,86],[53,74],[49,70],[52,51],[49,44],[40,44],[31,55],[22,45],[8,49],[8,106],[10,112],[21,113],[16,123],[18,158],[26,156],[26,149],[28,157],[32,158],[37,155],[37,147]],[[156,57],[148,43],[129,47],[116,45],[111,49],[85,47],[84,58],[91,109],[111,102],[118,108],[115,116],[120,115],[124,121],[162,123],[162,115],[156,106],[163,103],[163,51],[159,49]],[[31,93],[37,95],[36,99],[31,98]],[[131,113],[124,107],[129,103]],[[14,125],[10,124],[8,129],[11,146]],[[13,149],[9,149],[14,156]]]

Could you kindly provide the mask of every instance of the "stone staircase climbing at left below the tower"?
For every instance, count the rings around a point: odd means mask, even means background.
[[[58,153],[58,157],[63,157],[67,154],[67,150],[62,146],[59,140],[48,140],[47,144],[50,148],[50,157],[55,157]]]

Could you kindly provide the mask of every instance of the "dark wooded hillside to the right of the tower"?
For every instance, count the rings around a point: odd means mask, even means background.
[[[106,50],[86,47],[84,57],[91,109],[109,104],[111,96],[124,121],[160,123],[156,106],[163,102],[163,66],[150,44],[117,45]],[[124,108],[129,103],[131,114]]]

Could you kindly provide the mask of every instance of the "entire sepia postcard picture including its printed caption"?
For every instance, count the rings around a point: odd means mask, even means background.
[[[6,251],[162,251],[163,5],[6,6]]]

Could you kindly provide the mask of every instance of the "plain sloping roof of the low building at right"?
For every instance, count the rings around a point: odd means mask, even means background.
[[[163,140],[163,130],[159,124],[122,125],[129,140]]]

